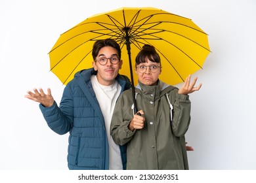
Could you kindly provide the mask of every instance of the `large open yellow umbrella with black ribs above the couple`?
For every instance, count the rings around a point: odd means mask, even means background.
[[[133,91],[137,76],[132,68],[144,44],[155,46],[163,67],[160,79],[169,84],[201,69],[210,52],[207,34],[189,18],[158,8],[119,8],[91,16],[60,35],[49,52],[51,71],[67,84],[77,71],[92,67],[93,44],[106,38],[119,43],[120,73],[130,76]]]

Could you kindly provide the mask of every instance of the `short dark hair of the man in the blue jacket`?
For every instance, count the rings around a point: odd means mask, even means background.
[[[117,50],[117,56],[121,58],[121,48],[119,44],[116,41],[114,41],[114,39],[102,39],[102,40],[96,41],[95,44],[93,44],[93,51],[92,51],[93,60],[95,60],[96,57],[98,56],[98,52],[100,51],[100,49],[105,46],[111,46],[115,48]]]

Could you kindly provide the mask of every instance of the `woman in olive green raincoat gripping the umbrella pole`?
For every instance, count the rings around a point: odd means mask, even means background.
[[[127,169],[188,169],[184,135],[190,124],[188,93],[200,90],[190,84],[181,89],[159,80],[160,56],[154,46],[144,45],[136,58],[135,88],[139,115],[133,113],[132,91],[123,92],[112,116],[111,135],[127,144]]]

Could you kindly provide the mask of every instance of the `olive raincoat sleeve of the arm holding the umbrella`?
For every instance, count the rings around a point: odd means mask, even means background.
[[[114,142],[119,145],[131,141],[133,135],[136,133],[136,130],[131,131],[128,129],[128,125],[130,124],[131,119],[133,119],[133,112],[131,110],[131,105],[127,105],[130,103],[129,100],[125,99],[122,94],[117,100],[110,125],[110,134],[112,135]]]

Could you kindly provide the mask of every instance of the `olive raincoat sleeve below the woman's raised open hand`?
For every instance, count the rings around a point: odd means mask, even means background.
[[[171,122],[171,128],[176,137],[181,137],[188,131],[190,125],[190,109],[191,103],[189,96],[177,93],[173,105],[173,121]]]

